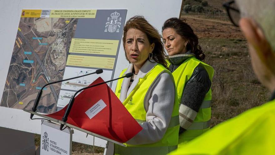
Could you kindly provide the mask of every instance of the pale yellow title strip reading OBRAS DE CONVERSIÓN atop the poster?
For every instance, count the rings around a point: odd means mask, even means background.
[[[96,18],[97,10],[51,10],[50,18]]]

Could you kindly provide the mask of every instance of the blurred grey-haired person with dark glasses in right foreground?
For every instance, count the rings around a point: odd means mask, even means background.
[[[271,99],[222,122],[170,155],[275,154],[275,0],[237,0],[224,6],[232,22],[242,29],[253,70],[273,92]]]

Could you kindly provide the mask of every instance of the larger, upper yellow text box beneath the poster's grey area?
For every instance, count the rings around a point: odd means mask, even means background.
[[[119,40],[72,39],[70,53],[116,55]]]

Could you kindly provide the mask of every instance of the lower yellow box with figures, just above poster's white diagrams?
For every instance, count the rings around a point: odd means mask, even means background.
[[[84,55],[68,55],[68,60],[66,65],[113,69],[114,63],[115,63],[115,58],[84,56]]]

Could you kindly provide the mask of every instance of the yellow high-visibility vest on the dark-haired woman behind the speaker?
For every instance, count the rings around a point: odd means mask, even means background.
[[[214,69],[211,66],[196,59],[195,57],[188,58],[172,73],[175,80],[179,101],[181,101],[182,97],[184,97],[182,95],[185,84],[191,78],[194,69],[198,65],[202,65],[205,68],[212,82]],[[187,128],[185,132],[179,135],[179,143],[188,142],[210,129],[211,100],[211,89],[209,89],[193,123]]]

